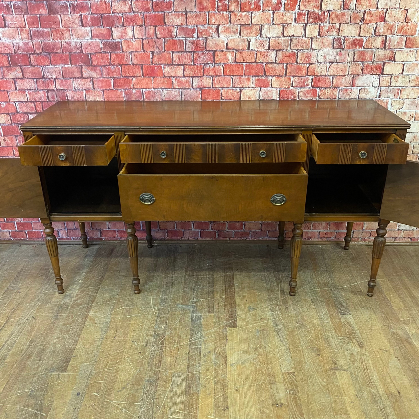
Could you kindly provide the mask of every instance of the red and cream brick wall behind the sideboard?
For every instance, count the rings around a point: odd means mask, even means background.
[[[419,0],[3,1],[0,13],[0,156],[17,155],[19,124],[58,100],[372,98],[411,123],[417,160]],[[54,227],[78,237],[72,222]],[[92,222],[88,235],[121,238],[122,228]],[[156,238],[277,235],[275,222],[153,228]],[[375,225],[354,228],[369,240]],[[418,239],[390,228],[395,240]],[[307,223],[304,236],[343,230]],[[0,239],[41,236],[39,220],[0,222]]]

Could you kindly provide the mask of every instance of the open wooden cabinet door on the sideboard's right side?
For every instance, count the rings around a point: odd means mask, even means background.
[[[419,162],[388,165],[380,218],[419,227]]]

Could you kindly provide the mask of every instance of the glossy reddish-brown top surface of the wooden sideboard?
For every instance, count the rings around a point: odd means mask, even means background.
[[[60,101],[23,131],[113,132],[200,129],[409,129],[373,100]]]

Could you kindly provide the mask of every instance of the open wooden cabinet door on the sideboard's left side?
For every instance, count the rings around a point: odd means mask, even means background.
[[[18,158],[0,159],[0,217],[48,217],[36,166],[22,166]]]

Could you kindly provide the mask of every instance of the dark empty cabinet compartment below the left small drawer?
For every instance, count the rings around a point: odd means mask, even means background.
[[[49,212],[119,214],[118,161],[108,166],[48,166],[42,168]]]

